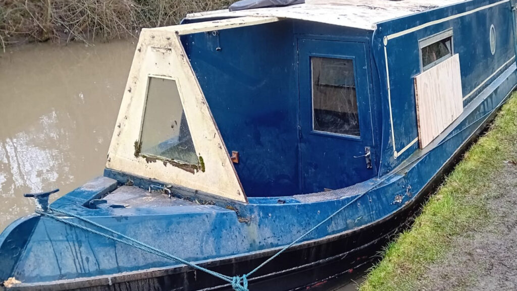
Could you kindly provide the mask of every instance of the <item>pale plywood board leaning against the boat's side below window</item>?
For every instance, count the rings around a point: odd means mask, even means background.
[[[458,54],[415,77],[420,148],[431,143],[463,113]]]

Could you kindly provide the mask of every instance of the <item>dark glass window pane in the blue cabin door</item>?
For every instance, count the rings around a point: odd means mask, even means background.
[[[313,130],[359,136],[354,61],[311,57]]]

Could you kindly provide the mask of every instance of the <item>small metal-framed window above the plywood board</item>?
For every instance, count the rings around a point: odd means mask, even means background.
[[[442,63],[454,54],[452,28],[418,41],[420,71]]]

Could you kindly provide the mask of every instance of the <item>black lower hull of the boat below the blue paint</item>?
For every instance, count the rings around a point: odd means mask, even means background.
[[[488,120],[492,120],[495,113]],[[443,176],[459,161],[463,152],[484,130],[484,125],[463,144],[415,199],[402,209],[356,231],[332,236],[294,247],[264,266],[249,279],[250,290],[284,291],[324,290],[326,282],[340,277],[357,278],[379,259],[377,252],[402,229],[406,228],[422,203],[443,180]],[[275,251],[276,252],[276,251]],[[212,262],[204,267],[226,275],[249,272],[275,252],[253,254]],[[345,279],[344,279],[345,278]],[[55,283],[55,284],[53,284]],[[230,291],[232,287],[222,280],[187,267],[145,270],[134,274],[118,274],[81,281],[50,282],[49,285],[20,286],[20,290],[74,290],[74,291]]]

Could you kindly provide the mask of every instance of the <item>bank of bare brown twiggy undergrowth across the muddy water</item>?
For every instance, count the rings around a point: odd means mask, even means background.
[[[135,36],[142,27],[178,23],[185,14],[232,0],[0,0],[0,49],[30,41]]]

